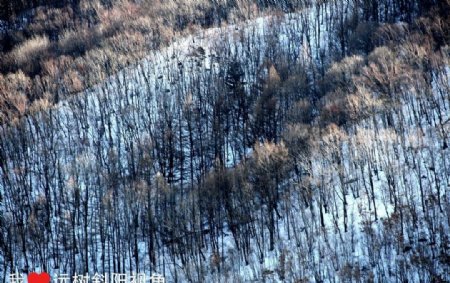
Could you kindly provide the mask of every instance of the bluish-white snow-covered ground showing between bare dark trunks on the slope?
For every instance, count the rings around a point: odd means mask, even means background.
[[[319,17],[317,13],[320,14]],[[160,130],[157,121],[161,113],[176,117],[175,105],[185,103],[194,92],[203,94],[194,95],[195,98],[208,97],[208,88],[214,85],[211,82],[223,80],[226,70],[234,61],[245,66],[247,92],[251,92],[250,87],[258,83],[258,76],[264,76],[261,74],[261,66],[267,60],[275,60],[271,56],[287,57],[292,65],[308,60],[317,65],[322,64],[321,58],[328,58],[330,55],[331,50],[328,48],[333,40],[333,35],[327,32],[328,28],[323,24],[330,21],[323,17],[331,17],[326,9],[311,9],[304,13],[259,18],[242,25],[209,29],[177,40],[167,48],[152,52],[136,66],[122,70],[86,92],[59,103],[51,110],[24,119],[17,129],[8,132],[5,130],[8,136],[1,141],[3,146],[11,149],[16,146],[14,142],[22,142],[17,156],[11,157],[6,164],[6,167],[15,169],[14,173],[0,175],[10,179],[10,183],[0,184],[5,193],[5,215],[13,219],[15,210],[20,209],[20,206],[17,208],[16,201],[23,201],[14,199],[14,190],[28,189],[34,200],[44,194],[47,184],[41,176],[48,170],[52,176],[62,173],[62,176],[50,181],[51,187],[64,188],[55,189],[55,199],[60,194],[70,194],[74,183],[80,188],[81,195],[86,190],[90,196],[95,195],[89,188],[95,187],[98,180],[74,172],[79,168],[83,168],[83,172],[89,172],[90,168],[98,171],[96,168],[99,166],[114,161],[112,167],[116,168],[113,169],[120,172],[121,178],[126,179],[131,172],[127,171],[129,166],[125,164],[131,163],[130,159],[139,159],[139,146],[144,146]],[[307,36],[312,37],[310,46],[306,44]],[[274,50],[277,54],[273,54]],[[448,82],[448,76],[447,70],[446,76],[441,79]],[[222,266],[224,271],[221,274],[212,270],[205,271],[204,281],[294,282],[295,278],[299,281],[319,282],[327,278],[327,282],[336,282],[342,280],[344,272],[348,273],[346,278],[355,282],[370,278],[375,282],[395,282],[400,278],[429,281],[430,278],[421,269],[425,263],[413,262],[418,260],[418,256],[414,255],[434,253],[437,250],[435,247],[445,245],[447,240],[433,236],[433,233],[438,229],[450,231],[450,220],[446,219],[450,209],[450,152],[442,149],[442,140],[447,139],[449,143],[450,140],[449,137],[440,136],[441,129],[436,122],[436,113],[440,111],[445,114],[443,120],[448,125],[450,105],[448,93],[443,98],[437,91],[434,95],[441,109],[445,110],[430,111],[433,117],[412,117],[412,111],[408,107],[424,107],[424,103],[425,107],[431,107],[433,103],[415,96],[408,97],[408,101],[412,102],[400,107],[398,114],[393,117],[395,125],[400,125],[400,119],[409,121],[402,125],[401,131],[395,127],[386,127],[380,115],[355,125],[337,143],[324,141],[326,151],[322,152],[317,148],[312,152],[312,156],[316,158],[312,158],[310,165],[311,179],[314,181],[310,186],[309,206],[304,204],[303,188],[294,188],[289,201],[282,204],[283,210],[289,210],[291,215],[278,220],[279,232],[275,249],[265,249],[261,260],[256,248],[261,244],[255,239],[251,243],[253,250],[250,252],[249,263],[245,264],[241,253],[236,251],[232,234],[227,233],[222,237],[220,247],[221,254],[226,255]],[[193,101],[193,104],[202,106],[205,115],[211,115],[212,106],[208,103]],[[419,135],[416,132],[418,126],[423,131]],[[211,131],[209,125],[202,127],[205,133]],[[21,132],[29,134],[22,138]],[[359,146],[361,143],[365,147]],[[401,146],[403,144],[406,146]],[[227,166],[232,167],[240,161],[232,154],[238,150],[234,148],[234,144],[226,146],[229,148],[227,152],[230,152]],[[102,153],[98,154],[98,150]],[[189,148],[182,150],[189,156]],[[341,158],[345,161],[343,172],[339,171],[329,155],[331,151],[345,155]],[[251,150],[246,149],[246,153],[250,155]],[[104,159],[97,159],[97,156]],[[44,164],[49,162],[62,169],[46,168]],[[195,162],[200,164],[202,161]],[[210,162],[213,162],[213,157]],[[21,168],[31,169],[22,172]],[[393,175],[398,170],[402,170],[401,176]],[[422,174],[417,175],[417,172]],[[344,180],[341,180],[340,174],[344,176]],[[77,176],[76,180],[74,176]],[[21,182],[21,178],[27,181]],[[13,183],[26,184],[26,188],[5,185]],[[439,205],[432,199],[427,200],[426,208],[421,207],[419,184],[427,196],[440,189],[440,206],[444,212],[438,211]],[[405,215],[398,215],[391,200],[392,191],[397,195],[398,206],[408,204],[415,209],[405,212]],[[319,209],[324,205],[321,203],[323,199],[327,199],[329,203],[323,216],[324,227],[321,227]],[[93,201],[89,203],[91,207],[95,205]],[[57,204],[54,206],[56,211]],[[347,217],[343,216],[344,209]],[[90,217],[95,218],[93,215]],[[405,220],[401,221],[408,223],[409,227],[414,227],[411,224],[414,222],[420,229],[405,228],[398,231],[398,219],[402,217]],[[60,229],[58,223],[64,221],[68,220],[63,219],[63,215],[55,214],[51,223],[52,230]],[[97,233],[95,224],[89,229],[93,234]],[[78,234],[82,233],[80,227],[77,237],[81,237]],[[403,239],[396,238],[399,235]],[[268,235],[264,236],[268,239]],[[96,237],[95,240],[100,239]],[[267,247],[267,243],[262,245]],[[431,247],[432,245],[435,247]],[[386,247],[391,250],[386,250]],[[411,252],[408,251],[409,248]],[[181,260],[173,260],[168,251],[163,251],[166,248],[161,249],[157,265],[162,266],[164,263],[167,281],[172,282],[175,278],[180,282],[187,281],[187,270],[194,272],[195,263],[182,266]],[[140,242],[139,257],[143,262],[148,261],[147,250],[147,243]],[[18,251],[14,252],[20,254]],[[89,257],[95,253],[97,251],[91,251]],[[210,247],[205,247],[203,254],[207,259],[204,265],[207,266],[213,251]],[[81,260],[81,255],[78,256],[80,258],[77,260]],[[4,260],[3,255],[0,258]],[[34,268],[40,268],[39,260],[33,263]],[[101,266],[100,263],[97,264]],[[126,264],[131,266],[131,262],[127,261]],[[53,263],[47,268],[52,274],[71,272],[54,266]],[[149,262],[143,266],[145,269]],[[431,266],[434,268],[433,272],[447,274],[448,279],[448,265],[436,260]],[[402,269],[396,269],[398,267]],[[163,270],[157,272],[162,273]],[[379,274],[390,274],[391,277],[380,277]]]

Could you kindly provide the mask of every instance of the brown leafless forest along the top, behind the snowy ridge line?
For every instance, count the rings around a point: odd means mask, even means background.
[[[339,21],[335,52],[345,56],[354,48],[369,51],[373,44],[367,31],[373,32],[379,22],[411,22],[436,6],[446,17],[447,0],[322,2],[1,0],[0,19],[5,21],[0,24],[0,123],[26,115],[41,98],[54,104],[89,88],[138,62],[149,50],[202,27],[235,23],[271,10],[293,12],[315,6],[324,18]],[[323,14],[325,6],[333,6],[331,15]],[[354,10],[358,13],[351,18],[336,17]],[[313,19],[302,24],[309,21]],[[332,22],[324,24],[328,29]],[[320,48],[321,30],[311,32],[318,33],[307,36],[314,36]]]

